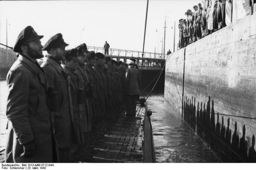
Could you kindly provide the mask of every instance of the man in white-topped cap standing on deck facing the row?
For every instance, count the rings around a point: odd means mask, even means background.
[[[139,89],[141,87],[140,71],[134,68],[134,62],[132,60],[127,60],[126,63],[129,65],[125,74],[125,91],[127,95],[126,116],[135,116],[136,98],[139,95]]]

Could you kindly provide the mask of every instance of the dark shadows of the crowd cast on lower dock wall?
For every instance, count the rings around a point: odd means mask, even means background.
[[[215,124],[214,101],[212,100],[210,106],[210,96],[206,106],[205,103],[197,103],[197,110],[195,98],[192,97],[192,101],[187,97],[184,99],[183,120],[223,162],[256,162],[255,136],[253,134],[252,145],[248,151],[247,146],[249,144],[245,139],[245,125],[243,126],[243,136],[239,140],[237,122],[235,122],[235,129],[231,130],[229,118],[227,119],[227,127],[225,127],[223,118],[225,115],[222,116],[220,124],[219,113],[217,113],[217,123]]]

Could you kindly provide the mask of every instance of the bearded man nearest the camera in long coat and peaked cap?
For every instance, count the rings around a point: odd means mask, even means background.
[[[57,161],[47,81],[36,61],[44,57],[42,37],[28,26],[20,32],[13,48],[20,56],[7,74],[6,163]]]

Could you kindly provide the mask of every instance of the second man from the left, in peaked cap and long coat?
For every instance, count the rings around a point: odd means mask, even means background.
[[[47,51],[41,67],[44,69],[49,87],[56,93],[55,98],[51,98],[54,114],[55,136],[59,148],[59,161],[70,162],[70,147],[77,140],[74,130],[74,116],[72,97],[70,94],[70,77],[60,66],[60,61],[65,60],[65,47],[68,46],[58,33],[51,37],[42,50]]]

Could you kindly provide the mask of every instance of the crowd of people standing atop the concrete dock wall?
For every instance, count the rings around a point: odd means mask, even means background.
[[[203,0],[185,12],[180,19],[179,48],[201,39],[214,31],[253,14],[256,0]]]

